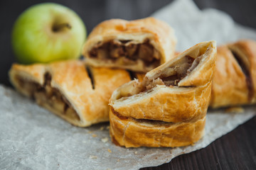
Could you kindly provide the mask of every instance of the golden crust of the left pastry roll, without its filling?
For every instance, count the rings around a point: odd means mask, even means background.
[[[28,97],[30,92],[21,86],[19,79],[43,85],[46,73],[50,74],[50,86],[58,89],[73,106],[79,120],[68,117],[41,103],[43,107],[81,127],[109,120],[107,106],[112,91],[128,82],[129,73],[121,69],[91,68],[95,89],[92,89],[85,64],[81,61],[53,62],[52,64],[13,64],[9,72],[14,87]],[[40,103],[39,103],[40,104]]]

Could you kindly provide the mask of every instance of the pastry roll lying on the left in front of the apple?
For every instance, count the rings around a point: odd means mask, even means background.
[[[131,80],[124,70],[85,67],[79,60],[13,64],[9,77],[21,94],[80,127],[109,120],[112,92]]]

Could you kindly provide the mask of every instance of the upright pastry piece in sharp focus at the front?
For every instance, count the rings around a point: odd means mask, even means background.
[[[182,147],[204,135],[215,41],[201,42],[110,98],[110,135],[124,147]]]

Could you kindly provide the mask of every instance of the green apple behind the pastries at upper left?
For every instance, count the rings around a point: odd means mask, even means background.
[[[43,3],[18,17],[12,46],[18,62],[45,63],[80,57],[85,38],[85,25],[74,11],[60,4]]]

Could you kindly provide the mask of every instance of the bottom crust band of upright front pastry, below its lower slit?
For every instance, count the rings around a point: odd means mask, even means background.
[[[112,141],[124,147],[183,147],[193,145],[204,135],[206,117],[188,123],[144,123],[122,119],[110,109]]]

